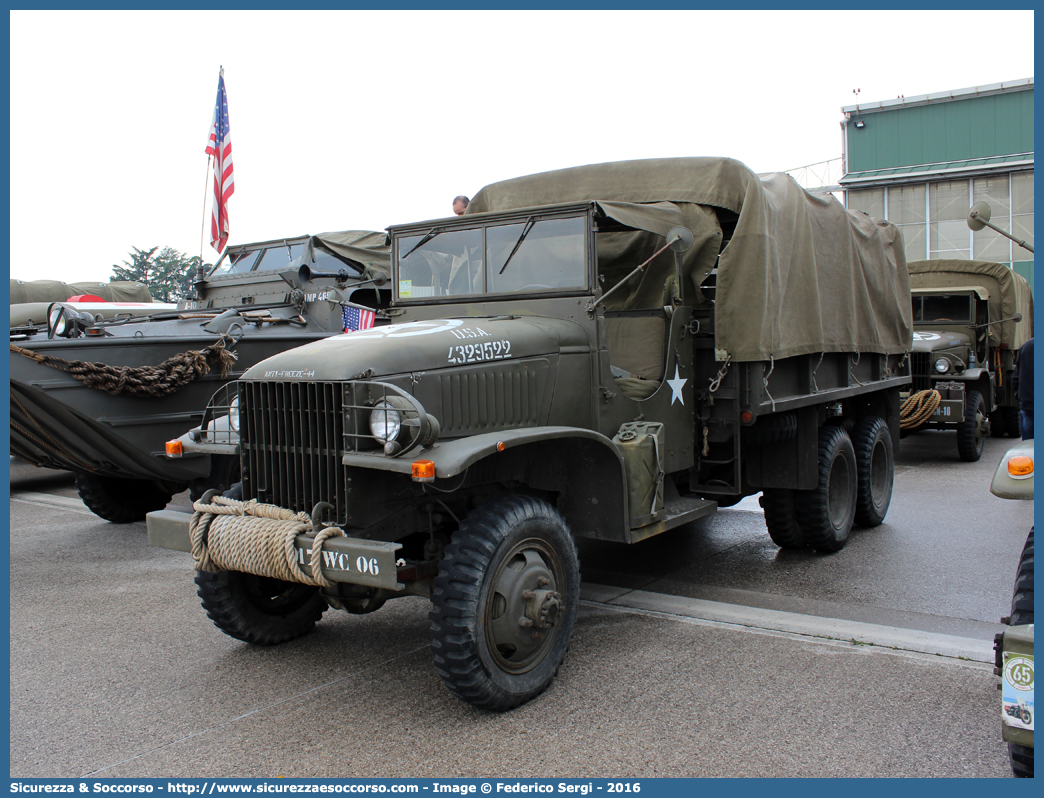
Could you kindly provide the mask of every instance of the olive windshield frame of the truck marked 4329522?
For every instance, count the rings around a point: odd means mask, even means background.
[[[524,208],[517,211],[496,213],[474,213],[464,216],[433,219],[413,225],[394,226],[388,228],[392,236],[392,304],[393,305],[449,305],[474,304],[477,302],[503,301],[513,299],[547,299],[549,297],[590,297],[594,294],[594,266],[596,226],[594,222],[596,206],[594,203],[570,203],[568,205],[543,206]],[[490,291],[478,294],[456,294],[448,297],[401,297],[400,288],[400,244],[404,239],[425,236],[434,232],[432,239],[438,235],[454,231],[481,230],[483,272],[487,271],[487,231],[494,227],[504,227],[515,224],[526,224],[532,219],[535,224],[552,219],[583,218],[585,220],[584,235],[584,275],[585,285],[571,288],[539,288],[530,290]],[[404,254],[408,253],[406,250]]]

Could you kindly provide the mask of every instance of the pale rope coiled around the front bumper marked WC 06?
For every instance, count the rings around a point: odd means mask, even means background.
[[[331,586],[323,576],[323,543],[345,534],[337,526],[327,526],[315,536],[309,576],[298,566],[294,546],[298,535],[313,529],[308,513],[226,496],[214,496],[206,504],[196,501],[192,509],[195,512],[189,522],[189,539],[196,570],[235,570],[284,582]]]

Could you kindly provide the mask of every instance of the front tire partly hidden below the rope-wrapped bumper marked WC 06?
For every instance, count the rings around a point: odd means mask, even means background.
[[[326,612],[317,587],[269,577],[197,570],[196,595],[207,617],[230,637],[275,646],[311,631]]]

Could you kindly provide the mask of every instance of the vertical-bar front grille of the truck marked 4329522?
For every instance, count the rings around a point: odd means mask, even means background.
[[[244,498],[306,513],[329,501],[335,523],[347,522],[343,390],[340,382],[239,383]]]

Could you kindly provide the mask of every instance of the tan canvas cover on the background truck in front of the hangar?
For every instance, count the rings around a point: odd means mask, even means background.
[[[914,260],[909,263],[911,288],[968,288],[980,285],[990,292],[990,321],[1022,313],[1019,323],[990,327],[990,346],[1005,344],[1018,349],[1034,335],[1034,298],[1029,283],[1003,263],[986,260]]]

